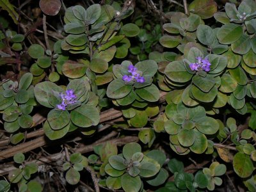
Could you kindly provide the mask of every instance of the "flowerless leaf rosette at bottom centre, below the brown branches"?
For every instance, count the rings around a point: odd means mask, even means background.
[[[106,179],[106,186],[110,189],[123,188],[124,191],[140,191],[143,188],[142,180],[156,175],[161,165],[157,157],[150,157],[141,152],[138,143],[124,145],[122,154],[111,156],[105,166],[105,172],[109,175]],[[150,182],[148,182],[150,184]]]

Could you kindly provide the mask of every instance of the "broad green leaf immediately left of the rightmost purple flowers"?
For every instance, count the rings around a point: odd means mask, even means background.
[[[193,74],[189,74],[186,70],[182,61],[173,61],[169,63],[164,70],[164,74],[168,79],[177,83],[186,83],[193,76]]]

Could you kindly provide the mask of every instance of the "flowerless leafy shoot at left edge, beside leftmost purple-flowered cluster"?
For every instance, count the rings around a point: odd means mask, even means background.
[[[29,129],[33,126],[32,116],[29,115],[36,106],[32,78],[31,73],[26,73],[20,77],[19,83],[9,80],[0,87],[0,110],[3,111],[4,130],[15,133],[10,140],[13,144],[24,139],[24,133],[17,132],[20,127]]]

